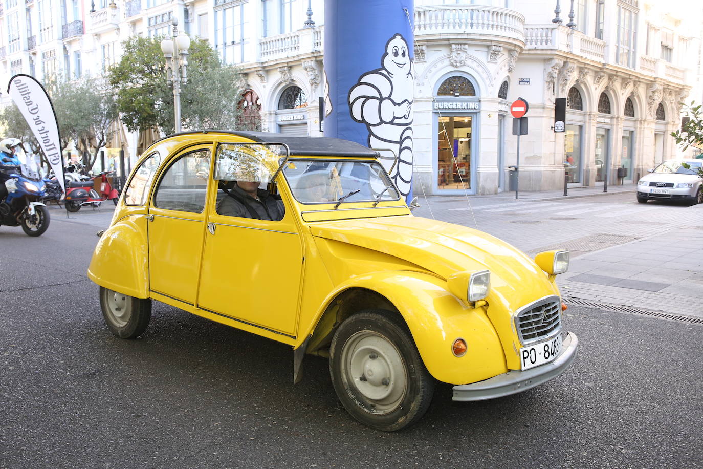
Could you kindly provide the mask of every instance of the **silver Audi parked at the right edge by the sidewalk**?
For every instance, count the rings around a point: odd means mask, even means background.
[[[688,163],[690,169],[683,167]],[[649,169],[637,183],[637,201],[681,200],[682,202],[703,203],[703,179],[697,170],[703,160],[666,160],[654,169]]]

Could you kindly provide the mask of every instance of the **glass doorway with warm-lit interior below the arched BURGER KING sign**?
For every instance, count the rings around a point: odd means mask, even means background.
[[[471,187],[471,127],[469,116],[439,116],[437,188]]]

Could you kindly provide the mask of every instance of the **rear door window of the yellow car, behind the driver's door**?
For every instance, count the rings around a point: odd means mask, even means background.
[[[195,150],[179,157],[159,181],[154,206],[181,212],[202,212],[209,168],[209,150]]]

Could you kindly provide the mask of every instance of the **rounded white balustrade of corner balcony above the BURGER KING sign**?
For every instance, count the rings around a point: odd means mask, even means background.
[[[524,16],[481,5],[439,5],[415,8],[415,35],[491,34],[524,42]]]

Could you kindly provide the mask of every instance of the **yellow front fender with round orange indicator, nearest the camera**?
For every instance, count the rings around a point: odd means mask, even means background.
[[[465,306],[449,293],[441,278],[413,271],[374,272],[350,278],[325,299],[314,325],[335,298],[349,288],[374,291],[394,304],[427,370],[437,380],[454,385],[475,383],[508,371],[501,340],[484,307]],[[452,353],[457,338],[467,343],[467,352],[461,357]]]

